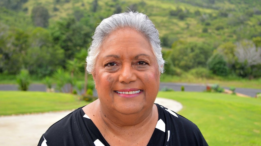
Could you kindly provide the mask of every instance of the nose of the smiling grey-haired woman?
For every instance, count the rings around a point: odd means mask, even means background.
[[[129,84],[132,81],[136,81],[137,76],[135,74],[135,70],[131,65],[122,65],[120,75],[119,75],[119,82],[124,82]]]

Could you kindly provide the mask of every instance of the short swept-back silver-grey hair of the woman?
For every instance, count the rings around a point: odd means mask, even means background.
[[[112,31],[124,27],[133,28],[144,34],[144,36],[149,40],[153,49],[159,71],[160,73],[163,73],[165,61],[162,58],[159,32],[147,15],[132,11],[113,14],[111,17],[102,20],[100,25],[97,26],[94,35],[92,36],[93,40],[91,42],[90,48],[88,49],[88,56],[86,58],[87,72],[90,74],[94,72],[97,56],[100,53],[100,47],[104,39]]]

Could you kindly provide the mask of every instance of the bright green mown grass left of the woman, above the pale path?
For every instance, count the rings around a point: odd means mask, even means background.
[[[64,93],[0,91],[0,115],[71,110],[88,104]]]

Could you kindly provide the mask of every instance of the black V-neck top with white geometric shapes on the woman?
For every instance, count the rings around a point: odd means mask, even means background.
[[[194,123],[159,104],[156,105],[159,119],[149,146],[208,145]],[[109,146],[82,107],[53,124],[42,135],[38,146],[46,145]]]

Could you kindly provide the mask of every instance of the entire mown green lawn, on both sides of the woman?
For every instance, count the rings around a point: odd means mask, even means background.
[[[88,104],[64,93],[0,91],[0,115],[75,109]],[[261,145],[261,98],[208,92],[159,92],[200,128],[209,145]]]

